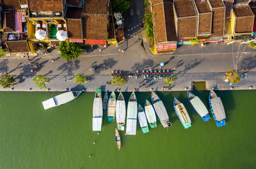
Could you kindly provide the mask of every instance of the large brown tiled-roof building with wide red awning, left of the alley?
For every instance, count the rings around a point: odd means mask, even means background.
[[[106,45],[108,40],[109,0],[86,0],[83,32],[86,44]]]

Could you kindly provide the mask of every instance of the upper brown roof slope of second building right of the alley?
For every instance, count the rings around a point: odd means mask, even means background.
[[[174,6],[178,18],[196,16],[196,11],[191,0],[175,1]]]

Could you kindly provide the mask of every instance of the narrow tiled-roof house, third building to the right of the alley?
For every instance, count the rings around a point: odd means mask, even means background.
[[[198,13],[198,35],[211,35],[212,10],[208,1],[195,0],[196,11]]]

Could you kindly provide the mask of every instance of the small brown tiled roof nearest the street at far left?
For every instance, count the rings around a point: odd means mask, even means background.
[[[8,48],[11,53],[28,53],[28,41],[20,40],[20,41],[6,41]]]

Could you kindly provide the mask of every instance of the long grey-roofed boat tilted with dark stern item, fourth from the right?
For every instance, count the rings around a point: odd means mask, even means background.
[[[155,112],[163,125],[164,128],[172,126],[172,123],[169,121],[169,116],[167,114],[166,108],[164,107],[163,101],[157,96],[155,92],[151,93],[151,100],[153,103],[153,107]]]

